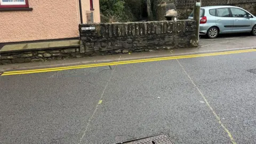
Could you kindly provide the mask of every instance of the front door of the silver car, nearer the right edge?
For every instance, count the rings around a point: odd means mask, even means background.
[[[249,19],[246,11],[238,8],[230,8],[230,11],[234,20],[233,32],[252,30],[252,21]]]

